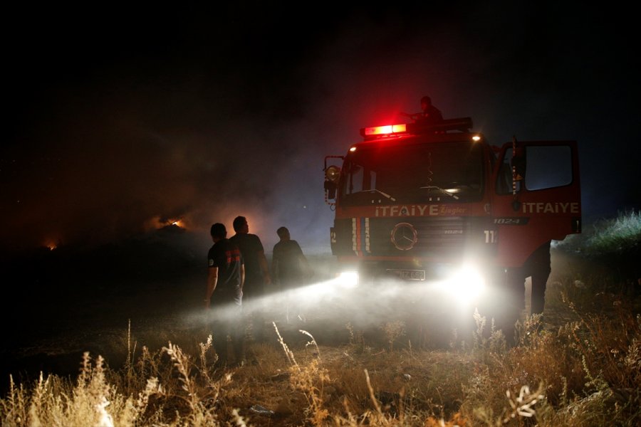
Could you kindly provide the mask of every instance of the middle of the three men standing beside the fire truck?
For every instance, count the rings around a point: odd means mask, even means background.
[[[261,342],[264,339],[264,315],[262,305],[265,287],[271,284],[269,266],[265,258],[263,243],[259,236],[249,233],[249,223],[244,216],[234,218],[236,234],[229,240],[239,247],[245,261],[245,283],[243,286],[243,305],[247,326],[251,326],[251,336]]]

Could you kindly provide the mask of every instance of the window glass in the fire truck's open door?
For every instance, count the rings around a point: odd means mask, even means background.
[[[527,146],[526,159],[526,189],[551,189],[572,183],[572,153],[567,145]]]

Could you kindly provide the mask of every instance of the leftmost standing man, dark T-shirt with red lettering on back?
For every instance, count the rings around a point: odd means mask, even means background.
[[[209,248],[207,261],[207,292],[205,309],[212,310],[212,335],[214,349],[218,354],[217,366],[224,367],[227,361],[227,336],[231,338],[234,362],[244,364],[244,336],[242,331],[243,283],[245,265],[238,246],[227,239],[227,230],[222,223],[214,223],[209,230],[214,245]]]

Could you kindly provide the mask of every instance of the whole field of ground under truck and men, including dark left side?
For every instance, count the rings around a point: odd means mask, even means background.
[[[294,297],[289,319],[283,295],[266,300],[266,339],[248,330],[246,363],[224,369],[213,364],[200,269],[41,291],[32,311],[26,289],[5,313],[1,423],[636,426],[640,224],[623,214],[553,248],[546,310],[524,317],[514,347],[482,312],[464,318],[463,334],[438,305],[390,309],[386,290],[370,290],[372,300],[323,292],[333,275],[324,255],[309,257],[323,286]]]

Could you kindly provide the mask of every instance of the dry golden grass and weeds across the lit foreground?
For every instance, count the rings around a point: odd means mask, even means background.
[[[588,281],[580,290],[593,288]],[[128,328],[121,367],[85,353],[75,379],[10,379],[0,420],[29,427],[639,425],[641,315],[617,295],[600,295],[608,310],[577,310],[587,298],[573,283],[557,283],[555,292],[573,319],[553,326],[528,318],[513,348],[500,332],[484,333],[491,322],[478,313],[474,341],[447,350],[399,345],[405,325],[398,320],[380,326],[377,343],[345,323],[349,341],[334,346],[319,346],[308,330],[288,331],[300,339],[287,342],[273,325],[273,344],[249,347],[254,363],[216,369],[211,336],[139,348]]]

